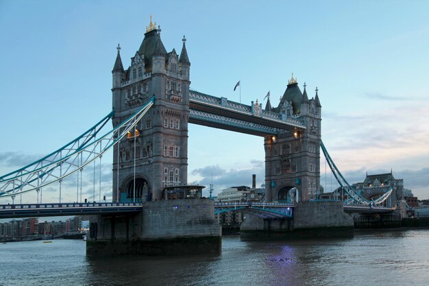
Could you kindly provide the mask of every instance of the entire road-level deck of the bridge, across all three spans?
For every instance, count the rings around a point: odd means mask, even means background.
[[[227,211],[252,212],[258,217],[282,219],[293,217],[295,204],[281,202],[215,202],[215,214]],[[143,211],[142,203],[48,203],[48,204],[0,204],[0,219],[18,217],[50,217],[62,215],[103,215],[111,213],[138,213]],[[345,213],[391,213],[392,208],[384,206],[344,206]]]

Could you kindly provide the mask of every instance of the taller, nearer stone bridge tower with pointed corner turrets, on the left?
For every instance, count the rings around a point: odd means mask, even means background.
[[[113,200],[160,200],[162,189],[187,182],[189,62],[186,38],[180,56],[167,53],[160,27],[152,22],[124,70],[118,45],[112,70],[113,127],[134,114],[154,95],[155,104],[136,129],[114,146]]]

